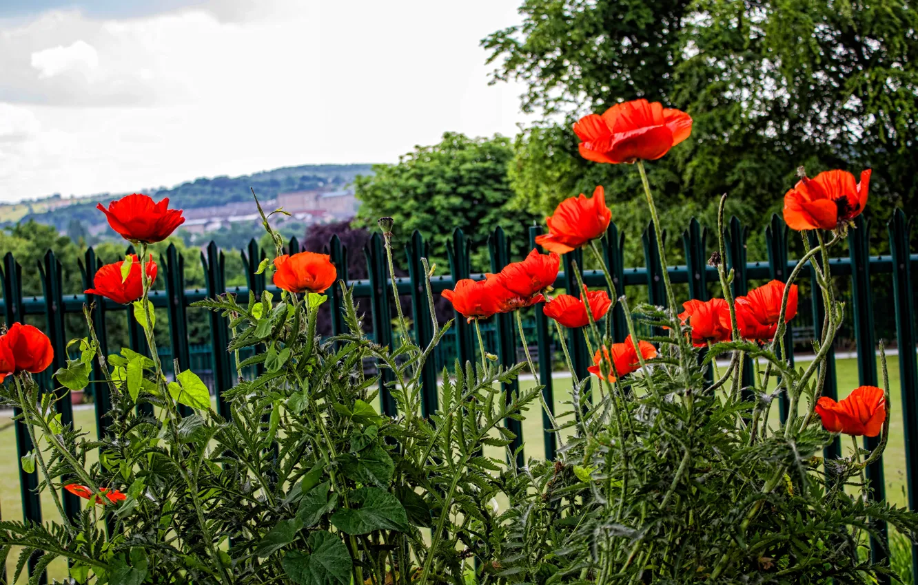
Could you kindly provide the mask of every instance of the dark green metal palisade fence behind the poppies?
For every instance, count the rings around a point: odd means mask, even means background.
[[[863,218],[858,217],[856,228],[851,229],[848,235],[848,257],[833,258],[830,261],[832,275],[834,277],[845,277],[850,279],[851,287],[851,305],[854,321],[854,337],[857,348],[857,365],[861,384],[877,385],[878,371],[876,365],[876,341],[874,330],[874,314],[877,307],[871,301],[871,280],[877,281],[882,279],[887,282],[883,293],[891,290],[891,296],[895,309],[895,327],[896,340],[899,346],[899,365],[901,380],[901,415],[905,428],[905,452],[906,452],[906,473],[908,484],[908,502],[912,509],[918,509],[918,363],[915,359],[915,345],[918,343],[914,328],[914,299],[912,288],[912,265],[918,262],[918,254],[912,254],[910,250],[911,243],[911,222],[906,220],[901,210],[897,210],[886,231],[889,236],[890,255],[871,256],[869,255],[868,235],[870,226]],[[659,260],[659,251],[656,248],[656,239],[653,234],[653,227],[648,226],[642,235],[644,247],[644,267],[627,268],[624,266],[624,235],[619,233],[618,228],[611,224],[607,237],[603,240],[603,254],[610,267],[612,280],[615,283],[617,293],[629,293],[631,296],[646,294],[646,298],[654,304],[665,304],[666,294],[663,290],[662,268]],[[530,228],[530,242],[541,231],[538,226]],[[724,234],[727,248],[727,268],[735,270],[736,278],[733,281],[733,292],[742,294],[749,288],[750,281],[766,281],[778,279],[784,281],[789,274],[790,269],[795,265],[795,261],[789,259],[789,233],[786,226],[778,218],[773,217],[766,229],[766,244],[768,252],[767,261],[746,260],[746,239],[748,230],[733,219],[730,222]],[[710,237],[700,224],[692,219],[688,228],[682,234],[682,244],[685,250],[686,264],[672,266],[668,268],[669,275],[674,284],[677,284],[683,295],[689,298],[707,300],[709,298],[709,285],[716,284],[718,281],[717,270],[707,265],[707,259],[716,245],[713,235]],[[452,288],[453,282],[460,278],[483,278],[481,274],[472,274],[470,266],[470,250],[467,239],[461,230],[456,230],[453,235],[452,243],[447,247],[449,256],[450,269],[452,275],[434,276],[431,281],[431,287],[434,293],[440,293],[444,289]],[[497,271],[505,266],[511,259],[509,258],[509,246],[503,231],[498,228],[490,238],[489,251],[491,258],[490,269]],[[292,239],[289,244],[290,253],[299,251],[299,244],[296,238]],[[386,274],[385,250],[383,248],[382,238],[375,234],[364,247],[363,250],[348,250],[341,245],[338,237],[332,237],[327,251],[331,255],[332,261],[336,266],[341,267],[339,278],[345,284],[353,285],[354,296],[356,298],[368,298],[370,311],[368,315],[368,325],[372,335],[380,344],[391,345],[394,340],[394,330],[392,319],[394,312],[391,298],[392,289],[391,281]],[[415,324],[413,336],[421,343],[426,343],[432,335],[430,328],[429,306],[426,303],[423,290],[423,267],[420,259],[427,254],[427,245],[420,233],[415,232],[409,238],[405,246],[405,256],[402,257],[409,268],[409,277],[396,278],[397,292],[399,296],[409,297],[411,300],[412,315],[409,318]],[[367,261],[369,278],[365,280],[352,281],[347,274],[347,255],[363,253]],[[235,293],[247,296],[249,291],[260,294],[265,290],[275,292],[272,285],[267,284],[264,275],[255,274],[259,261],[265,257],[265,252],[259,249],[257,243],[253,240],[249,246],[241,251],[243,266],[245,270],[246,281],[248,286],[227,287],[225,270],[224,270],[224,252],[220,251],[213,243],[201,253],[200,262],[204,267],[206,285],[196,289],[185,289],[185,258],[179,255],[174,247],[167,249],[166,253],[160,259],[161,275],[164,276],[164,290],[158,290],[151,293],[151,301],[154,307],[165,309],[168,313],[169,335],[171,338],[171,348],[163,350],[163,358],[178,359],[179,366],[183,369],[191,368],[203,374],[203,377],[209,382],[212,392],[217,397],[218,412],[224,416],[229,415],[227,405],[221,399],[222,392],[228,390],[235,378],[236,373],[231,365],[231,356],[226,351],[229,343],[229,330],[226,319],[219,315],[208,315],[209,342],[206,346],[192,346],[189,343],[189,332],[187,327],[186,308],[189,304],[223,293]],[[558,281],[555,286],[565,288],[568,291],[576,289],[572,275],[572,262],[577,260],[578,266],[582,266],[582,255],[577,251],[566,254],[564,257],[563,271],[558,275]],[[103,351],[111,353],[106,337],[106,314],[123,315],[129,327],[129,348],[145,352],[143,343],[142,330],[140,326],[131,317],[130,311],[124,306],[115,304],[105,299],[96,298],[90,294],[73,293],[62,291],[62,265],[54,257],[52,252],[48,252],[43,261],[39,263],[39,272],[42,282],[43,295],[23,297],[21,275],[23,267],[19,266],[16,259],[11,253],[6,253],[3,259],[2,281],[3,281],[3,300],[0,302],[6,324],[15,322],[25,322],[30,315],[43,315],[45,317],[45,331],[49,335],[55,349],[55,361],[49,371],[61,367],[66,359],[64,348],[68,341],[68,336],[64,331],[64,315],[80,314],[84,304],[95,303],[95,312],[93,315],[95,329],[99,337],[99,342]],[[98,270],[101,262],[95,257],[92,248],[86,251],[84,261],[81,262],[80,270],[83,272],[84,283],[92,282],[95,270]],[[25,267],[26,270],[34,270],[36,267]],[[67,267],[73,270],[73,267]],[[453,277],[454,275],[454,277]],[[879,275],[879,276],[878,276]],[[598,270],[585,270],[584,281],[589,287],[603,288],[605,279]],[[873,277],[873,279],[871,279]],[[811,281],[814,285],[814,277],[811,274],[810,267],[807,266],[802,270],[800,283],[806,284]],[[888,279],[888,280],[887,280]],[[646,293],[636,287],[642,287]],[[801,313],[811,311],[810,308],[804,309],[803,303],[800,304]],[[337,289],[330,291],[330,303],[326,304],[331,314],[331,331],[333,334],[341,333],[343,329],[343,320],[341,318],[341,292]],[[801,328],[804,331],[812,332],[811,335],[820,333],[823,325],[823,309],[820,295],[812,295],[812,323],[803,324]],[[621,304],[612,314],[612,335],[616,341],[622,341],[626,337],[625,323],[621,315]],[[533,352],[539,356],[540,378],[545,385],[543,390],[545,402],[549,405],[554,404],[554,389],[552,381],[553,356],[556,348],[552,336],[553,328],[549,327],[548,319],[543,315],[541,306],[535,307],[533,314],[527,318],[527,329],[532,333],[532,339],[535,341]],[[68,332],[71,337],[76,335],[83,336],[85,331]],[[793,359],[793,333],[789,331],[789,359]],[[520,359],[518,355],[519,339],[516,335],[513,323],[509,320],[509,315],[498,315],[492,319],[486,327],[486,345],[488,351],[498,356],[500,363],[509,364]],[[583,338],[571,335],[568,339],[568,347],[571,348],[574,361],[574,369],[578,377],[588,375],[587,367],[591,357],[588,356],[587,348],[584,346]],[[425,414],[430,414],[437,408],[437,375],[442,370],[443,364],[448,367],[453,363],[453,359],[460,359],[463,363],[467,360],[474,360],[476,347],[473,343],[473,332],[465,324],[462,318],[456,319],[451,337],[448,337],[443,343],[443,348],[439,350],[437,359],[429,363],[422,375],[422,392],[423,392],[423,410]],[[837,392],[837,381],[834,371],[834,357],[830,355],[829,369],[826,377],[825,394],[835,396]],[[92,380],[100,381],[101,372],[96,369],[93,371]],[[744,368],[744,372],[752,375],[752,367]],[[380,380],[381,408],[386,414],[395,413],[395,403],[391,396],[386,392],[386,383],[391,379],[391,372],[382,370]],[[46,375],[44,381],[47,387],[50,385],[50,379]],[[747,381],[747,383],[751,380]],[[509,384],[515,388],[519,382]],[[108,396],[106,384],[93,384],[95,388],[95,419],[97,423],[97,432],[101,436],[106,432],[107,420],[106,412],[108,409]],[[58,408],[62,413],[64,423],[73,421],[73,410],[71,402],[62,400],[57,402]],[[781,413],[785,409],[782,407]],[[522,436],[521,425],[516,421],[509,421],[512,430],[517,433],[518,439],[514,447],[521,447],[524,439],[535,441],[535,437]],[[547,416],[543,416],[543,428],[549,425]],[[28,433],[22,425],[17,424],[17,449],[20,455],[25,455],[32,448],[28,438]],[[554,458],[554,441],[551,440],[549,433],[543,433],[544,452],[546,457]],[[867,439],[868,448],[875,447],[876,439]],[[826,449],[827,457],[837,457],[840,453],[840,447],[836,444]],[[520,451],[520,461],[522,461],[522,450]],[[878,461],[868,469],[868,477],[872,480],[873,496],[877,499],[885,497],[885,486],[883,483],[883,465]],[[38,486],[38,476],[36,473],[26,473],[19,469],[19,485],[22,494],[22,512],[28,520],[41,521],[41,506],[36,488]],[[67,494],[65,494],[67,495]],[[75,513],[79,510],[79,502],[66,500],[65,510],[67,513]],[[885,526],[878,526],[879,538],[872,541],[873,555],[876,558],[883,557],[885,546],[882,541],[886,539]],[[918,574],[918,550],[912,551],[912,563],[914,574]]]

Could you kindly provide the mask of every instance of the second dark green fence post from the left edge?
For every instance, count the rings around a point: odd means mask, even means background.
[[[61,424],[63,426],[73,427],[73,402],[70,397],[70,391],[66,388],[60,390],[54,389],[54,381],[51,372],[67,365],[67,333],[63,325],[63,290],[62,290],[62,272],[60,260],[54,256],[54,252],[48,250],[45,258],[39,262],[39,276],[41,277],[41,288],[45,293],[45,318],[47,320],[45,333],[50,338],[51,348],[54,348],[54,360],[51,367],[47,370],[48,388],[42,392],[54,392],[57,400],[54,402],[54,408],[58,414],[61,414]],[[75,520],[80,515],[80,498],[73,495],[70,491],[62,492],[63,511],[71,520]]]

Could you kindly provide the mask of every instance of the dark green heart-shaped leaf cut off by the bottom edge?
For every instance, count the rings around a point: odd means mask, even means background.
[[[350,585],[353,561],[341,538],[319,530],[309,535],[308,546],[309,554],[291,550],[284,556],[287,577],[298,585]]]

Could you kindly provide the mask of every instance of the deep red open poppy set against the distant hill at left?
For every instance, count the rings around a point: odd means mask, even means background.
[[[169,198],[154,204],[149,195],[134,193],[95,208],[108,217],[108,225],[132,242],[162,242],[175,228],[185,223],[181,209],[168,209]]]

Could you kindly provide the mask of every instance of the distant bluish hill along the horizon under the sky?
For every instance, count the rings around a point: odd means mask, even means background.
[[[169,197],[170,207],[192,209],[251,201],[252,191],[259,199],[274,199],[278,193],[341,189],[359,174],[371,174],[369,164],[319,164],[283,167],[274,171],[256,172],[240,177],[219,176],[183,182],[171,189],[139,190],[159,201]],[[55,226],[60,232],[79,231],[105,222],[105,216],[95,210],[95,204],[107,204],[126,193],[97,193],[76,199],[52,195],[44,199],[18,204],[0,205],[0,225],[18,221],[35,221]],[[90,231],[93,231],[90,229]]]

